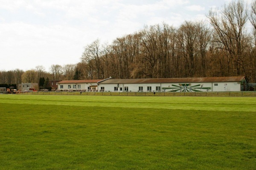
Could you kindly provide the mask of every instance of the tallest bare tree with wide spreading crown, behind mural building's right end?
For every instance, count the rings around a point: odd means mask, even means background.
[[[244,52],[248,48],[246,22],[248,9],[242,0],[232,1],[224,5],[221,11],[210,10],[207,17],[215,30],[214,41],[227,55],[229,75],[240,75]],[[233,64],[233,74],[230,74],[230,62]],[[243,70],[244,71],[244,70]]]

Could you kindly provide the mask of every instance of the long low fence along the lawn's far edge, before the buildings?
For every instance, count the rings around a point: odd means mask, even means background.
[[[238,92],[68,92],[33,91],[19,92],[25,95],[87,95],[87,96],[256,96],[255,91]]]

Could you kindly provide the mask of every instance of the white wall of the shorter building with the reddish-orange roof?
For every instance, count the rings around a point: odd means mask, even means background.
[[[93,88],[95,88],[95,90],[98,90],[97,83],[58,83],[58,90],[88,90]]]

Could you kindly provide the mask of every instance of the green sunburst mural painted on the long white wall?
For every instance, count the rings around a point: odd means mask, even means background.
[[[172,87],[163,88],[164,91],[180,91],[180,92],[192,92],[192,91],[209,91],[210,87],[204,87],[202,84],[191,85],[191,83],[180,83],[179,85],[172,85]]]

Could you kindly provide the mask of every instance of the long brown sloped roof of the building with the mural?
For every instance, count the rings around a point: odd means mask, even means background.
[[[238,77],[192,77],[165,79],[107,79],[99,84],[134,84],[134,83],[181,83],[181,82],[241,82],[244,76]]]

